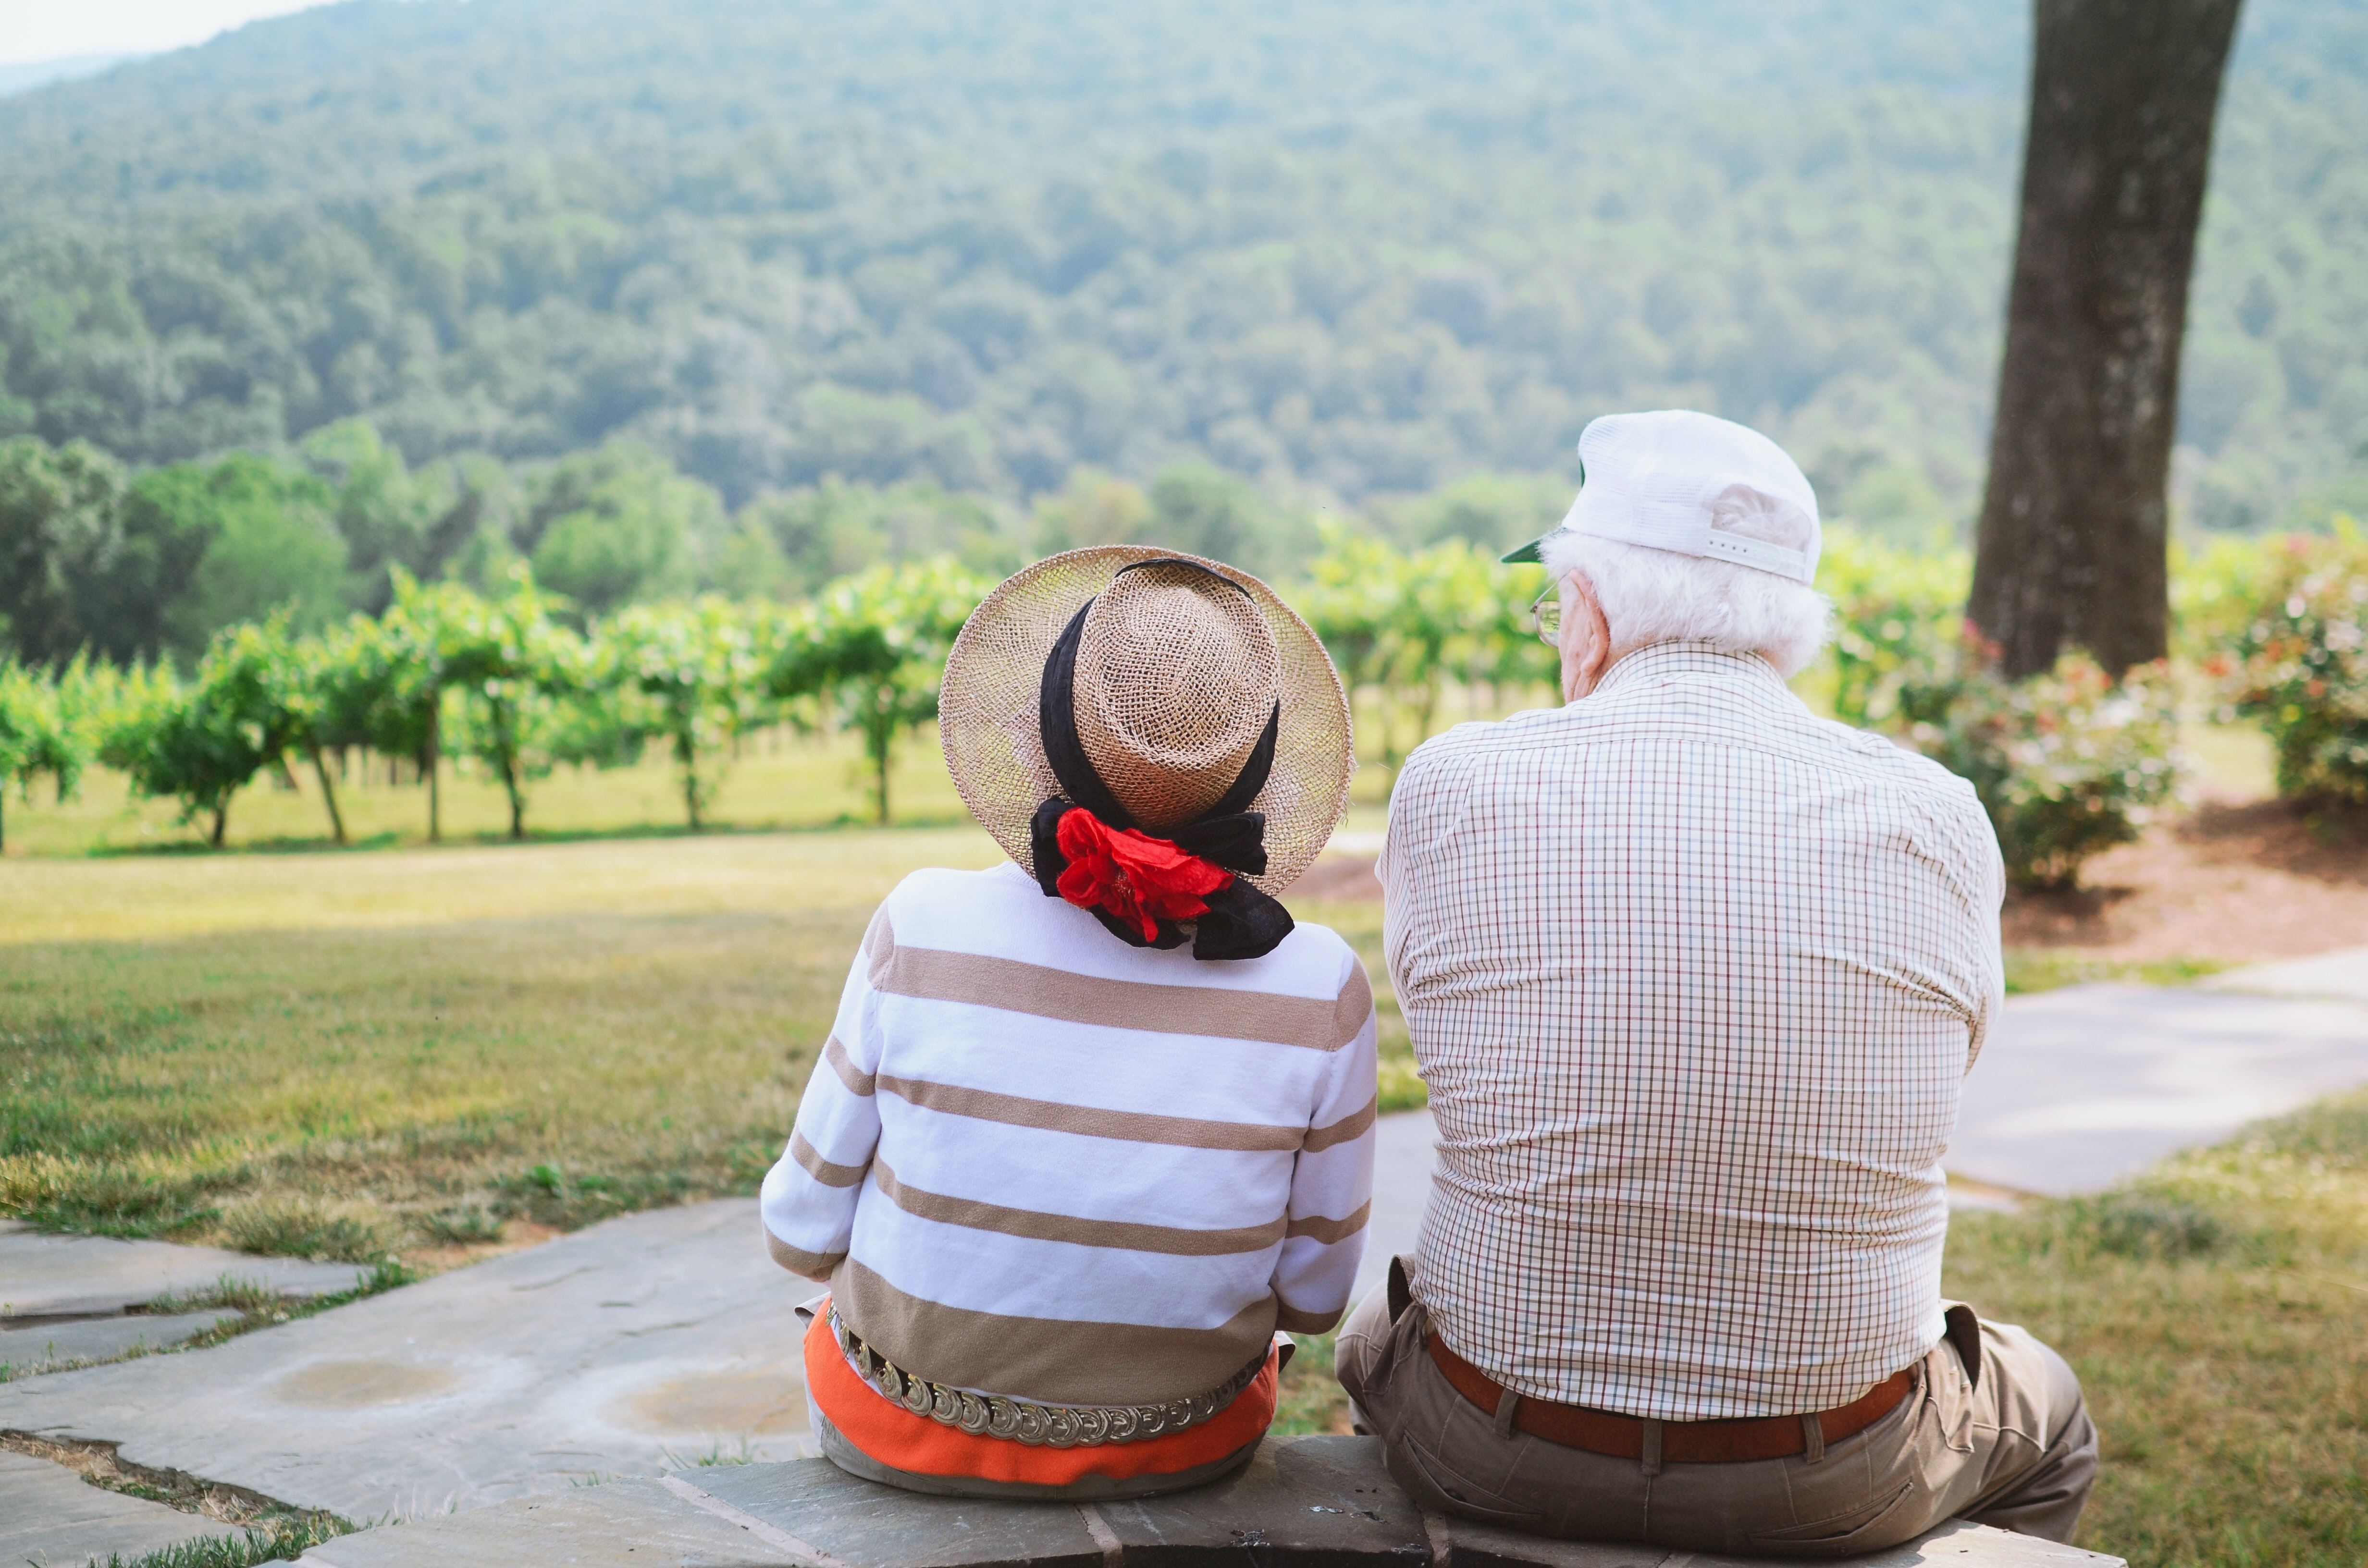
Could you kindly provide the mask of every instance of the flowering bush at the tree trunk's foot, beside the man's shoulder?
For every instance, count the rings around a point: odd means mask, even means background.
[[[2077,886],[2081,862],[2136,841],[2176,791],[2169,668],[2143,666],[2117,685],[2086,654],[2065,654],[2046,675],[2008,682],[1970,628],[1963,647],[1954,670],[1902,687],[1906,739],[1973,782],[2008,881]]]

